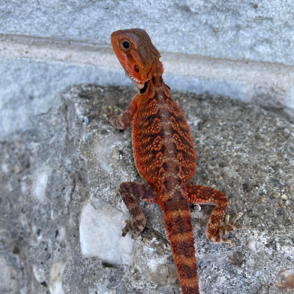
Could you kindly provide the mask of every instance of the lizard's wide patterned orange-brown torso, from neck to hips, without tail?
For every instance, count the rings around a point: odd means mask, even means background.
[[[158,190],[169,178],[187,183],[195,173],[187,122],[161,76],[153,76],[141,95],[133,122],[133,151],[139,174]]]

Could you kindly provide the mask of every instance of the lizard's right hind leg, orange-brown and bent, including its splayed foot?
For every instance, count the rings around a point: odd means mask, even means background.
[[[223,192],[201,185],[188,185],[187,188],[190,203],[216,206],[207,223],[207,238],[213,243],[223,242],[233,246],[233,241],[223,237],[228,232],[240,228],[240,225],[235,225],[235,222],[242,216],[242,213],[237,213],[229,222],[230,216],[225,215],[229,200]]]

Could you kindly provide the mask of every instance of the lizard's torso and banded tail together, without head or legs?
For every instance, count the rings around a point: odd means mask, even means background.
[[[133,122],[139,174],[158,191],[183,293],[198,292],[193,226],[186,185],[196,168],[187,122],[160,75],[148,81]]]

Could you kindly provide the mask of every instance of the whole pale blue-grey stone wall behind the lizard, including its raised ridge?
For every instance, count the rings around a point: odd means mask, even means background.
[[[29,128],[69,84],[131,85],[109,39],[132,27],[151,36],[173,90],[293,108],[293,16],[278,0],[1,1],[1,134]]]

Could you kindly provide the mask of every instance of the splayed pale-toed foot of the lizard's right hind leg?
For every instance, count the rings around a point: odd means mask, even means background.
[[[209,231],[206,230],[207,238],[213,242],[213,243],[228,243],[231,246],[234,246],[235,243],[230,239],[223,238],[227,233],[233,230],[237,230],[241,227],[241,225],[236,225],[235,222],[243,215],[242,212],[239,212],[233,216],[233,218],[229,221],[230,216],[227,214],[223,220],[223,222],[220,223],[217,231],[215,234],[209,234]]]

